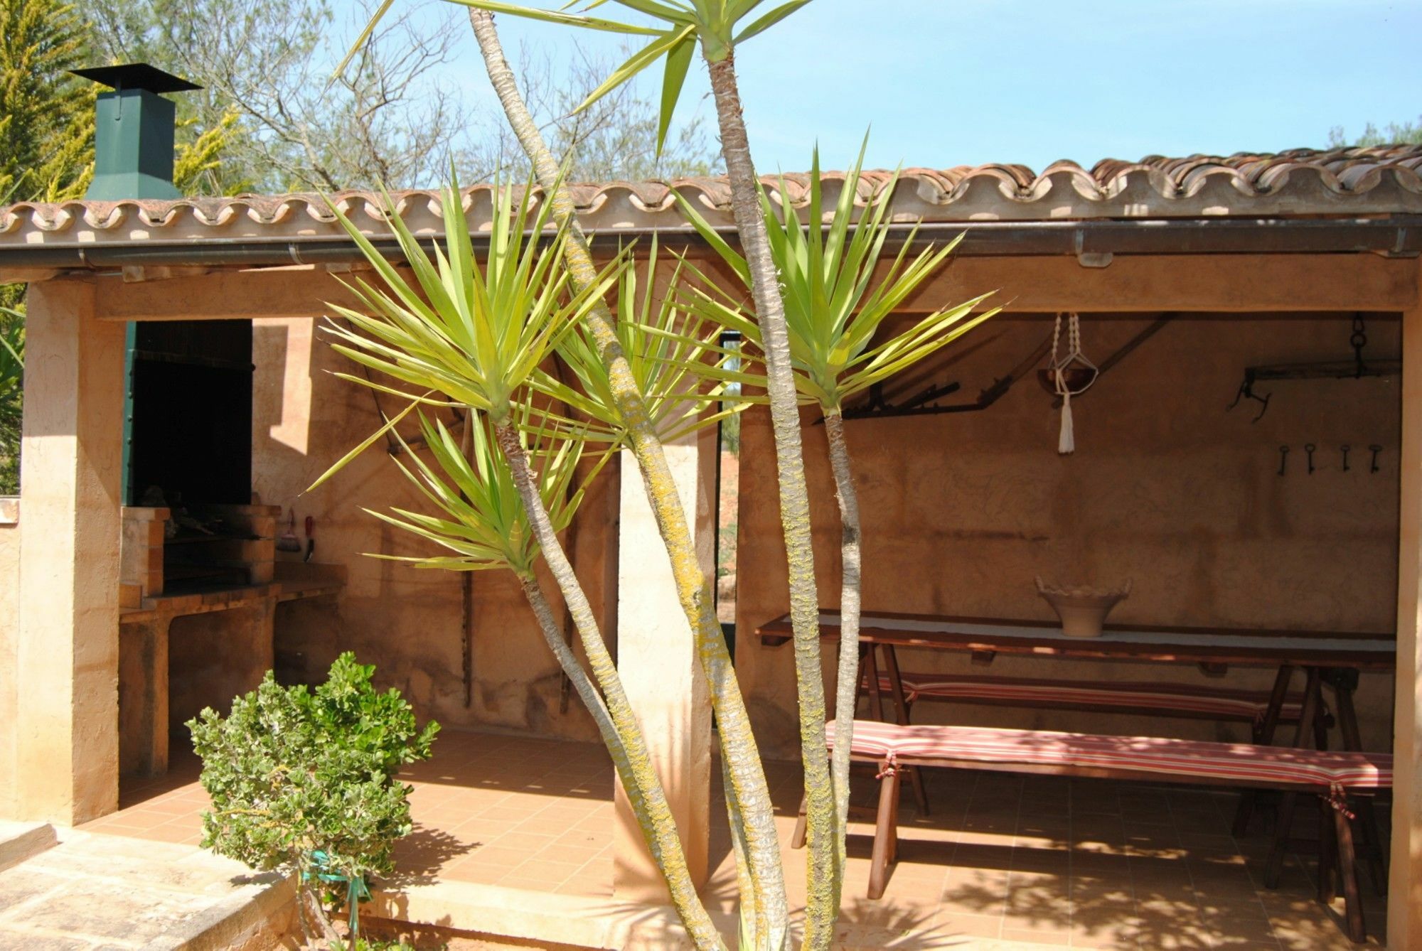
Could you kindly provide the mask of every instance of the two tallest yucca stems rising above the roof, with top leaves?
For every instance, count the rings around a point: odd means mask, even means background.
[[[653,17],[657,26],[638,26],[566,14],[555,10],[515,7],[483,0],[456,0],[471,7],[474,27],[491,84],[503,105],[509,125],[523,146],[539,183],[550,199],[553,217],[566,229],[565,260],[576,290],[592,286],[597,269],[589,245],[577,227],[574,203],[562,188],[557,158],[549,151],[533,117],[529,114],[509,68],[492,13],[532,16],[539,20],[623,33],[646,38],[646,45],[620,67],[596,95],[610,91],[647,67],[663,63],[664,82],[658,138],[664,139],[683,82],[701,50],[711,71],[717,101],[722,156],[731,179],[732,208],[747,250],[755,291],[755,308],[764,328],[766,354],[766,389],[775,428],[779,503],[785,526],[786,554],[791,566],[791,616],[795,628],[795,675],[799,695],[801,752],[808,790],[809,897],[806,904],[805,945],[826,948],[833,937],[838,915],[839,881],[843,873],[839,856],[842,829],[836,829],[835,800],[830,789],[829,758],[825,748],[825,697],[819,674],[818,596],[815,591],[813,550],[809,534],[809,500],[801,453],[799,418],[795,382],[789,368],[784,310],[775,284],[774,266],[755,193],[755,168],[751,162],[745,125],[741,118],[734,50],[779,23],[809,0],[766,3],[766,0],[620,0],[620,6]],[[385,0],[357,40],[357,47],[391,6]],[[594,0],[589,9],[603,6]],[[353,50],[354,53],[354,50]],[[348,60],[350,57],[347,57]],[[586,105],[586,104],[584,104]],[[737,856],[741,891],[742,944],[757,948],[781,948],[789,941],[789,913],[785,876],[781,867],[779,840],[774,810],[761,765],[759,749],[751,731],[745,699],[739,692],[731,658],[708,597],[710,586],[701,573],[685,512],[671,479],[665,453],[647,412],[637,378],[623,351],[611,313],[594,306],[587,314],[590,338],[602,358],[619,418],[627,424],[626,441],[647,485],[658,529],[667,547],[673,580],[683,611],[697,641],[697,652],[715,709],[725,770],[725,802]],[[836,840],[840,840],[836,846]],[[695,938],[695,934],[693,934]]]

